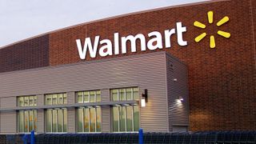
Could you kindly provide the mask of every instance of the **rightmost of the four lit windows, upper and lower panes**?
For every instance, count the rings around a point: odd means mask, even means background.
[[[137,100],[138,88],[124,88],[111,90],[113,101]],[[112,120],[114,132],[131,132],[139,129],[138,106],[113,106]]]

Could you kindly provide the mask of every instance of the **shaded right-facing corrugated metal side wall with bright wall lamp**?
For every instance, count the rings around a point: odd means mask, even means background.
[[[169,127],[189,126],[188,74],[185,64],[166,54]],[[174,81],[174,79],[177,81]],[[178,102],[178,98],[184,100]]]

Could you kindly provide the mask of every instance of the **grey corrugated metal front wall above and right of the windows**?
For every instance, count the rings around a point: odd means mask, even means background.
[[[148,89],[149,94],[146,107],[141,109],[142,128],[167,131],[165,54],[139,54],[0,74],[0,94],[4,97],[138,86]],[[68,130],[74,132],[74,110],[68,110],[68,115]]]

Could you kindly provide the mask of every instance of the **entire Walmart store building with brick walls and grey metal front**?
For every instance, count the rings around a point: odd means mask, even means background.
[[[256,1],[70,26],[0,49],[0,134],[256,130]]]

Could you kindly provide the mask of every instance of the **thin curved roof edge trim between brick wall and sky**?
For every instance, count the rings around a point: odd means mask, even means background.
[[[83,23],[79,23],[79,24],[76,24],[76,25],[73,25],[73,26],[66,26],[66,27],[58,29],[58,30],[52,30],[52,31],[49,31],[49,32],[46,32],[46,33],[43,33],[43,34],[38,34],[38,35],[30,37],[30,38],[22,39],[18,42],[13,42],[13,43],[7,44],[6,46],[0,46],[0,49],[6,48],[8,46],[13,46],[13,45],[18,44],[20,42],[26,42],[30,39],[42,37],[43,35],[53,34],[53,33],[58,32],[58,31],[68,30],[68,29],[76,27],[76,26],[83,26],[83,25],[94,23],[94,22],[102,22],[102,21],[106,21],[106,20],[110,20],[110,19],[114,19],[114,18],[122,18],[122,17],[125,17],[125,16],[134,15],[134,14],[143,14],[143,13],[148,13],[148,12],[152,12],[152,11],[166,10],[166,9],[175,8],[175,7],[195,6],[195,5],[202,5],[202,4],[208,4],[208,3],[214,3],[214,2],[229,2],[229,1],[231,1],[231,0],[206,0],[205,2],[192,2],[192,3],[181,4],[181,5],[165,6],[165,7],[159,7],[159,8],[150,9],[150,10],[142,10],[142,11],[131,12],[131,13],[127,13],[127,14],[120,14],[120,15],[117,15],[117,16],[109,17],[109,18],[102,18],[102,19],[98,19],[98,20],[94,20],[94,21],[90,21],[90,22],[83,22]]]

